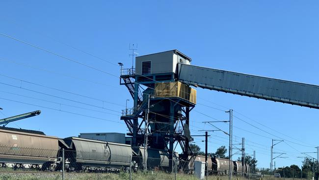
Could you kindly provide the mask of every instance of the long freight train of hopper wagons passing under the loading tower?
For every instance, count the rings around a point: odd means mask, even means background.
[[[147,149],[147,168],[168,170],[169,154],[165,150]],[[60,171],[64,156],[65,170],[69,172],[120,172],[143,169],[144,148],[126,144],[97,141],[78,137],[60,139],[47,136],[41,131],[0,127],[0,167],[29,168],[41,171]],[[174,159],[178,159],[174,154]],[[205,162],[205,156],[196,156],[195,161]],[[181,163],[180,163],[181,162]],[[188,164],[188,172],[194,170],[194,161]],[[232,161],[234,174],[249,173],[249,165]],[[182,161],[173,161],[173,167],[182,166]],[[210,174],[226,175],[229,160],[208,158]]]

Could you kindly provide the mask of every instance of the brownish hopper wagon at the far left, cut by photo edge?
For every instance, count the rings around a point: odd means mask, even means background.
[[[54,171],[59,163],[57,161],[58,151],[57,137],[46,136],[40,131],[0,129],[1,167]]]

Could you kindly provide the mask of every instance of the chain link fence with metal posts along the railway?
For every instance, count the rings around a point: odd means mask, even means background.
[[[147,159],[143,158],[143,155],[118,154],[121,152],[96,152],[94,147],[90,147],[90,151],[75,151],[0,145],[0,174],[9,172],[57,174],[62,180],[69,179],[70,174],[124,176],[123,179],[128,180],[140,179],[136,178],[139,175],[160,176],[165,174],[169,175],[168,179],[194,176],[193,164],[186,169],[185,162],[178,157],[170,160],[166,153],[157,155],[154,153],[152,157],[149,154]],[[205,176],[205,179],[208,180],[226,180],[229,172],[227,170],[215,171],[210,167],[205,172]],[[288,170],[278,168],[271,172],[266,168],[256,168],[244,174],[233,172],[234,180],[312,180],[313,177],[314,172],[311,170],[301,171],[292,168]]]

